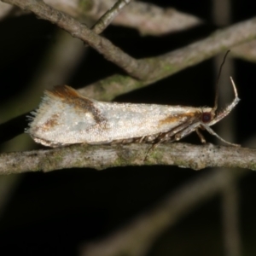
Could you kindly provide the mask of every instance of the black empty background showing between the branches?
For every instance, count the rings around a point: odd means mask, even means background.
[[[175,9],[201,17],[206,24],[155,38],[143,37],[133,29],[109,26],[104,36],[128,54],[143,58],[180,48],[207,37],[218,28],[212,22],[210,1],[151,2],[160,6],[172,4]],[[232,5],[232,23],[255,15],[253,1],[237,0],[232,1]],[[55,44],[57,30],[34,15],[0,22],[0,108],[1,104],[26,89],[49,45]],[[90,49],[67,84],[79,88],[114,73],[121,71]],[[255,131],[255,65],[236,60],[232,75],[241,98],[234,110],[235,143],[243,145]],[[213,61],[204,61],[146,89],[119,96],[116,101],[212,106],[215,80]],[[218,131],[218,125],[213,129]],[[215,142],[211,136],[207,136],[207,140]],[[199,143],[194,135],[184,141]],[[4,151],[4,144],[1,150]],[[207,172],[211,170],[195,172],[174,166],[141,166],[102,172],[73,169],[20,175],[0,218],[0,254],[77,255],[84,242],[118,230],[138,213],[154,207],[172,190]],[[256,253],[255,184],[254,172],[249,172],[238,183],[243,255]],[[188,212],[160,236],[148,255],[224,255],[223,247],[221,196],[216,195]]]

